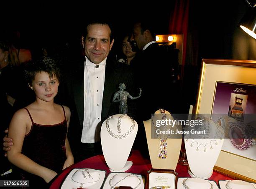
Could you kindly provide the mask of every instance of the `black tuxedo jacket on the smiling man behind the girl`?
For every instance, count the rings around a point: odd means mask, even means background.
[[[120,83],[125,83],[126,91],[131,95],[135,93],[131,68],[128,65],[108,59],[102,99],[102,122],[110,115],[119,113],[119,102],[113,103],[112,101],[114,93],[119,90],[118,85]],[[81,141],[84,119],[84,60],[81,60],[79,65],[72,74],[64,78],[64,82],[60,86],[61,102],[71,110],[68,138],[72,152],[76,151],[76,146]],[[134,117],[135,111],[134,103],[128,99],[128,114]]]

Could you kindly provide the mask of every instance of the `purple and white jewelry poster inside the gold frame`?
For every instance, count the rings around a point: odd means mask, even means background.
[[[220,122],[225,126],[223,129],[225,129],[226,136],[222,150],[256,160],[256,145],[254,145],[253,136],[243,137],[245,135],[243,129],[230,128],[234,123],[244,124],[243,126],[247,128],[252,127],[250,123],[253,119],[250,120],[251,116],[246,115],[256,114],[256,85],[216,82],[212,114],[214,122],[219,119],[214,115],[223,115]],[[255,119],[254,116],[253,118]],[[241,136],[236,139],[234,134]]]

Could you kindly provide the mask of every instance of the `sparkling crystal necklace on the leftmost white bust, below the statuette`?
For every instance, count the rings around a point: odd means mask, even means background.
[[[121,119],[124,117],[124,116],[127,116],[128,118],[131,119],[131,127],[130,129],[125,132],[125,134],[114,134],[110,128],[109,128],[109,120],[113,117],[113,116],[110,116],[107,120],[106,120],[106,128],[107,128],[107,131],[108,133],[111,135],[111,137],[114,137],[116,139],[123,139],[125,137],[127,137],[129,134],[131,134],[131,132],[133,132],[133,129],[135,127],[135,121],[133,120],[133,118],[129,117],[127,114],[122,114],[118,117],[118,123],[117,123],[117,129],[118,129],[118,133],[121,133],[121,128],[120,128],[120,125],[121,125]]]

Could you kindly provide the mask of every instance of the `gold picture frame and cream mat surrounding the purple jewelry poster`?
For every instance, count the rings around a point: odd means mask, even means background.
[[[203,59],[194,113],[213,113],[218,82],[256,87],[256,61]],[[235,179],[256,182],[256,159],[243,155],[221,150],[214,170]]]

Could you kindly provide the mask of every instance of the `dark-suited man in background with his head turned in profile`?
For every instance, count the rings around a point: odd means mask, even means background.
[[[140,20],[134,24],[131,41],[140,50],[136,55],[134,67],[136,81],[142,88],[139,99],[139,112],[142,120],[151,118],[159,108],[179,113],[177,107],[178,84],[177,65],[164,47],[156,43],[156,28],[151,20]],[[143,72],[143,77],[141,77]]]

